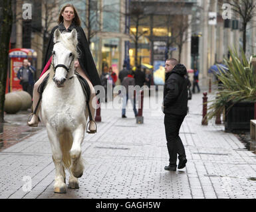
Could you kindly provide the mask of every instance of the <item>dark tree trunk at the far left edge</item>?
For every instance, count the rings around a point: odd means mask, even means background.
[[[4,122],[5,88],[8,72],[8,54],[11,37],[11,26],[13,23],[13,12],[11,0],[1,0],[1,30],[0,30],[0,123]]]

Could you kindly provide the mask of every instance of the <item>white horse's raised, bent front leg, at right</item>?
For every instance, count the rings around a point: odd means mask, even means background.
[[[84,140],[83,125],[80,125],[74,130],[73,138],[74,140],[73,140],[72,148],[70,150],[70,156],[71,156],[70,170],[72,172],[72,175],[75,178],[80,178],[84,171],[84,165],[82,163],[82,156],[81,156],[81,153],[82,153],[81,144],[82,144],[82,140]]]

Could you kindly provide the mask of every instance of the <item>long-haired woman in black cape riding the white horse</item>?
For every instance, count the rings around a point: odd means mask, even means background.
[[[89,107],[90,112],[92,114],[92,121],[89,123],[89,132],[94,133],[96,132],[96,124],[94,122],[94,113],[96,109],[96,101],[92,101],[95,97],[94,87],[95,85],[101,85],[100,78],[98,76],[98,72],[96,70],[96,66],[94,64],[94,60],[92,58],[92,54],[90,52],[88,42],[86,36],[84,34],[84,30],[80,26],[80,19],[78,17],[78,13],[73,5],[66,4],[64,5],[63,9],[61,9],[61,13],[59,14],[59,25],[55,26],[51,31],[49,44],[47,46],[45,60],[43,62],[43,70],[41,71],[41,76],[39,80],[35,83],[34,90],[33,90],[33,117],[31,121],[28,122],[30,127],[37,127],[39,123],[39,108],[37,107],[40,101],[39,95],[39,85],[43,82],[43,80],[49,74],[49,65],[51,64],[52,60],[52,53],[53,53],[53,35],[57,28],[61,32],[71,32],[73,28],[76,29],[78,33],[78,52],[80,54],[78,60],[74,62],[74,67],[76,68],[76,72],[82,76],[82,78],[86,79],[88,85],[90,86],[90,100],[89,100]]]

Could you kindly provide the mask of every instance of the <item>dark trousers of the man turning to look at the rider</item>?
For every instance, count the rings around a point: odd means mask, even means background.
[[[180,127],[182,126],[184,118],[184,115],[166,114],[164,116],[164,127],[166,128],[166,140],[170,156],[170,166],[177,166],[177,154],[179,154],[179,159],[181,157],[186,157],[185,148],[182,144],[182,139],[180,139],[179,136]]]

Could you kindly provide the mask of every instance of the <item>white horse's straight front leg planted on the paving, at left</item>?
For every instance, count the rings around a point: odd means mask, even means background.
[[[51,143],[51,149],[53,153],[53,162],[55,163],[55,193],[66,193],[65,173],[63,167],[63,153],[61,152],[61,146],[59,138],[54,129],[47,124],[47,133]]]

